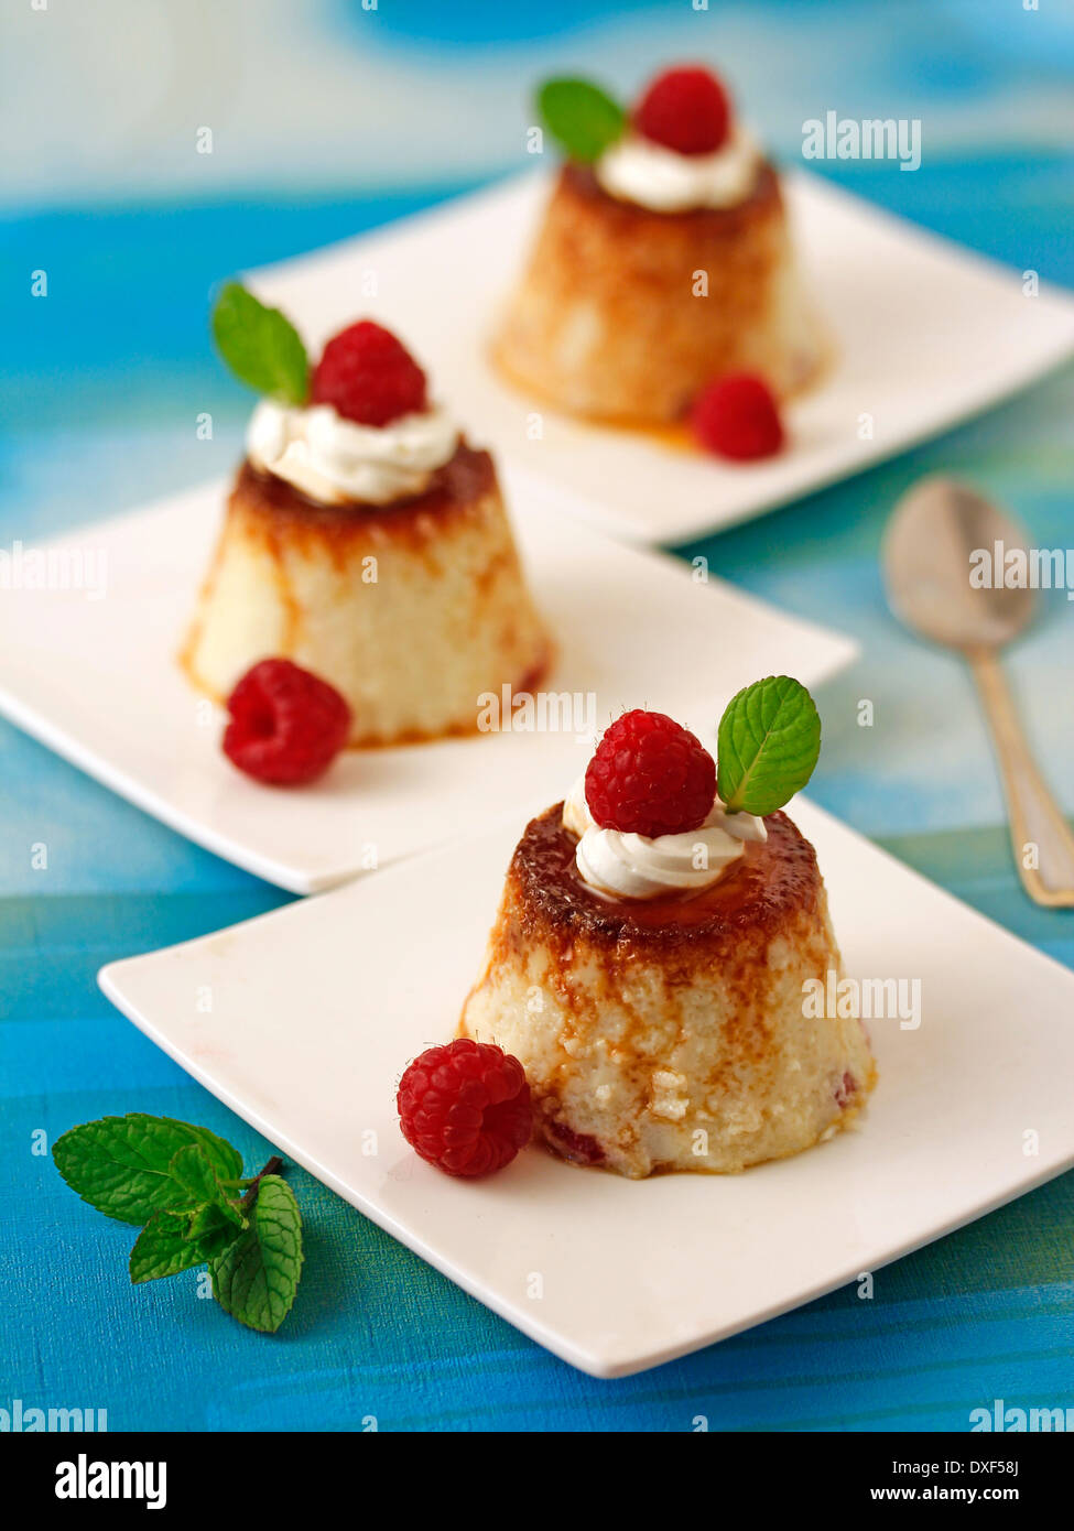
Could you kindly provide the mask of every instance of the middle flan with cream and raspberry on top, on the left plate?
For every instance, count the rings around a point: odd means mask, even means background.
[[[182,649],[218,701],[268,657],[336,687],[352,747],[470,732],[548,661],[490,455],[368,320],[257,404]]]

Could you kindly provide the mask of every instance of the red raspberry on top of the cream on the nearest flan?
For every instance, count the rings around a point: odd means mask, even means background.
[[[585,770],[585,801],[602,830],[685,834],[715,802],[715,761],[662,712],[627,712],[605,732]]]

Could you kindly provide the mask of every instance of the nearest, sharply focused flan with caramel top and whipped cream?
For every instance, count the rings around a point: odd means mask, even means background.
[[[613,738],[645,775],[631,750]],[[604,828],[590,801],[582,781],[527,825],[460,1035],[518,1058],[555,1153],[631,1179],[738,1171],[844,1128],[875,1067],[860,1020],[803,1000],[841,974],[812,845],[712,796],[663,834]]]

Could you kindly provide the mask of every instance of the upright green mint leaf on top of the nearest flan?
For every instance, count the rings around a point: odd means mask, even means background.
[[[820,756],[820,717],[806,687],[769,675],[728,703],[717,735],[717,792],[731,813],[775,813],[800,792]]]

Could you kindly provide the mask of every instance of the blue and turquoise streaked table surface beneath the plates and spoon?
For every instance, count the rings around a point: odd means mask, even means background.
[[[1074,286],[1069,112],[1065,127],[1054,110],[1063,101],[1069,109],[1074,35],[1056,14],[991,0],[714,3],[689,23],[682,6],[579,11],[412,0],[385,6],[368,26],[360,6],[337,3],[311,6],[303,26],[308,47],[325,60],[331,52],[336,69],[352,49],[355,67],[372,60],[386,75],[400,70],[394,89],[415,115],[426,89],[457,81],[460,92],[478,90],[499,64],[513,70],[521,98],[545,66],[591,67],[601,57],[605,77],[627,87],[650,63],[688,52],[726,64],[784,155],[801,118],[829,106],[919,115],[925,158],[916,175],[855,164],[826,173],[1017,269]],[[702,21],[711,31],[688,29]],[[34,54],[32,66],[47,77],[47,55]],[[58,104],[55,93],[47,100],[63,112],[61,92]],[[360,103],[355,118],[362,126]],[[93,136],[84,122],[66,126]],[[375,122],[366,129],[375,141]],[[164,138],[169,124],[161,118],[141,132]],[[467,132],[484,144],[480,121],[458,129]],[[313,162],[313,190],[296,191],[302,170],[280,170],[274,187],[253,156],[211,196],[169,182],[150,193],[126,184],[116,161],[115,171],[98,167],[92,193],[78,193],[72,171],[52,194],[41,184],[40,194],[9,199],[0,210],[0,545],[225,472],[248,400],[205,343],[210,285],[512,165],[495,147],[460,164],[443,136],[431,121],[424,147],[385,150],[375,188],[342,168],[326,184]],[[144,144],[132,147],[135,171],[139,155]],[[116,179],[110,191],[106,171]],[[49,299],[32,302],[28,273],[41,266]],[[201,410],[214,415],[211,442],[195,439]],[[812,795],[1069,966],[1074,916],[1036,909],[1017,888],[968,681],[887,615],[876,550],[893,499],[933,468],[965,473],[1016,507],[1039,545],[1071,545],[1072,413],[1066,369],[938,442],[682,550],[703,551],[720,574],[860,638],[861,661],[821,697],[826,749]],[[1074,605],[1054,596],[1011,657],[1068,813],[1072,637]],[[863,697],[876,707],[872,730],[855,723]],[[83,1206],[34,1153],[34,1134],[51,1142],[74,1122],[146,1110],[214,1127],[250,1164],[268,1145],[127,1026],[98,994],[95,972],[287,896],[188,845],[8,726],[0,770],[0,1407],[21,1398],[107,1409],[112,1428],[349,1430],[375,1416],[380,1428],[688,1430],[702,1415],[726,1430],[909,1430],[965,1428],[970,1410],[994,1398],[1074,1405],[1074,1176],[881,1272],[872,1301],[837,1292],[617,1382],[555,1361],[299,1171],[291,1174],[308,1265],[277,1337],[253,1335],[199,1300],[192,1274],[132,1289],[130,1231]],[[44,871],[31,860],[40,842]]]

